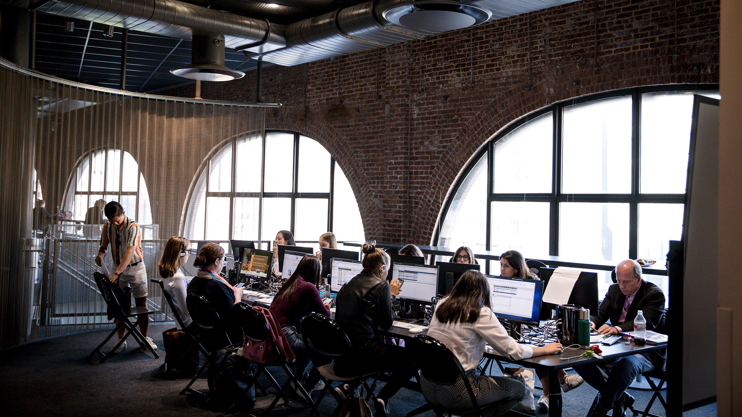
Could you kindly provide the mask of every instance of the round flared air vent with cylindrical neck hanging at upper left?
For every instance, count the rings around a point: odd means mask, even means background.
[[[191,65],[170,70],[177,76],[201,81],[232,81],[245,73],[224,66],[224,36],[194,36],[191,41]]]

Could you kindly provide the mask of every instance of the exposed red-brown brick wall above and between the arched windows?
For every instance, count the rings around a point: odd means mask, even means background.
[[[586,0],[334,61],[272,66],[263,101],[283,108],[268,112],[266,127],[300,131],[330,151],[367,238],[427,244],[487,139],[577,96],[716,83],[718,24],[718,0]],[[205,83],[202,96],[253,101],[255,73]]]

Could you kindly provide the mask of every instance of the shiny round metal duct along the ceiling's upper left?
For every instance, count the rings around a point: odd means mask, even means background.
[[[269,24],[265,20],[211,10],[183,1],[48,0],[33,7],[33,10],[180,39],[221,35],[224,36],[226,47],[255,48],[257,52],[286,46],[280,24]]]

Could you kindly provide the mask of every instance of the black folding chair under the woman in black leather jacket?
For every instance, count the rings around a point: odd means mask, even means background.
[[[317,352],[320,355],[329,356],[330,358],[338,358],[351,348],[350,339],[343,329],[332,319],[318,313],[312,313],[301,321],[301,335],[304,337],[306,347],[311,352]],[[376,396],[373,393],[375,381],[372,387],[369,387],[366,380],[378,375],[378,372],[350,377],[338,376],[335,374],[334,363],[317,367],[317,370],[320,372],[321,378],[325,383],[325,387],[321,391],[317,401],[312,404],[312,412],[317,413],[318,416],[320,415],[318,410],[319,404],[327,393],[327,390],[331,387],[330,384],[332,381],[348,384],[352,390],[362,385],[367,392],[366,401],[368,402],[371,398],[376,401]],[[334,395],[335,391],[333,390],[332,393]],[[338,404],[341,402],[341,398],[335,397],[335,400],[338,401]]]

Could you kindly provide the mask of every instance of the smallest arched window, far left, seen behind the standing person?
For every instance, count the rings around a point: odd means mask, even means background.
[[[152,223],[149,193],[139,164],[120,149],[101,148],[82,157],[73,170],[65,196],[65,210],[72,211],[73,220],[82,223],[105,222],[100,213],[102,207],[96,206],[99,200],[118,201],[127,217],[140,225]],[[78,232],[84,233],[84,229]],[[152,239],[152,229],[142,228],[142,237]]]

